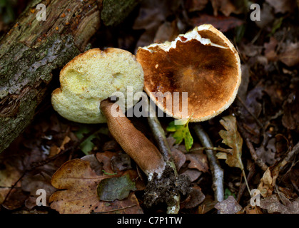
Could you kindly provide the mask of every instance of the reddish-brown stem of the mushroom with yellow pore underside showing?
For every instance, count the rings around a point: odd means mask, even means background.
[[[146,138],[141,131],[137,130],[125,116],[113,115],[111,109],[114,103],[109,100],[101,101],[101,112],[105,115],[109,131],[123,150],[136,162],[136,164],[151,180],[156,172],[161,177],[166,162],[161,152],[153,143]],[[120,108],[118,106],[118,108]]]

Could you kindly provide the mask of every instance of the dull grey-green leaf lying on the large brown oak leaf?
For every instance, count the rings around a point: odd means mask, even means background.
[[[111,177],[101,180],[97,188],[98,198],[108,202],[113,202],[115,199],[125,199],[130,191],[135,190],[135,183],[128,174],[122,177]]]

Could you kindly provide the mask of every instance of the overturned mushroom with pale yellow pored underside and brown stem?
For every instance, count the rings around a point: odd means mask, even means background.
[[[107,98],[143,90],[143,69],[130,52],[118,48],[91,49],[76,56],[60,72],[61,88],[52,93],[52,105],[60,115],[78,123],[105,123],[113,138],[135,160],[150,180],[161,176],[165,162],[157,147],[137,130]],[[131,108],[131,107],[126,107]],[[118,106],[118,110],[121,108]]]

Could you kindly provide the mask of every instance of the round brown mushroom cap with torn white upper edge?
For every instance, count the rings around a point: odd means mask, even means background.
[[[177,119],[199,122],[213,118],[233,103],[241,81],[238,52],[221,31],[198,26],[175,41],[138,48],[144,90],[158,108]],[[188,115],[166,108],[155,92],[188,92]],[[175,104],[173,104],[175,105]],[[182,102],[180,99],[180,110]],[[182,107],[186,108],[186,107]]]

